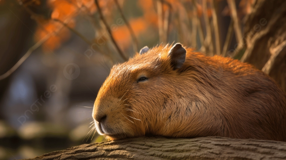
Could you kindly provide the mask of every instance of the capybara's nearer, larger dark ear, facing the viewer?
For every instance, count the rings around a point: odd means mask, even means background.
[[[182,44],[176,43],[168,52],[168,56],[171,59],[171,66],[173,69],[178,69],[183,66],[186,59],[186,50],[182,47]]]

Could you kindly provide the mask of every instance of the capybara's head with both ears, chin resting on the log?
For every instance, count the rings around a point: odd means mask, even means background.
[[[93,118],[99,134],[122,139],[152,134],[170,119],[166,99],[175,99],[178,74],[186,57],[180,43],[144,47],[133,58],[112,67],[94,103]],[[164,108],[166,114],[159,111]]]

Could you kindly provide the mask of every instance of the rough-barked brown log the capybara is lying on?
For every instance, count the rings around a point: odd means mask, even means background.
[[[225,137],[138,137],[83,144],[30,160],[49,159],[285,159],[286,142]]]

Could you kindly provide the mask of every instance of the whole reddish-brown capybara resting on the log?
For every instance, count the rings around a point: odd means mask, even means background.
[[[286,141],[286,96],[272,78],[238,60],[171,47],[143,48],[112,67],[94,104],[100,134]]]

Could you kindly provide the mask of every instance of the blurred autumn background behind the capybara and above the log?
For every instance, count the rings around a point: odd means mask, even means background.
[[[0,159],[104,141],[91,126],[97,92],[113,64],[144,46],[180,42],[249,62],[285,91],[285,9],[279,0],[0,0]]]

